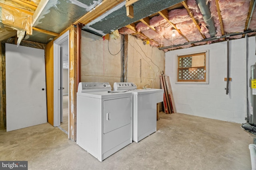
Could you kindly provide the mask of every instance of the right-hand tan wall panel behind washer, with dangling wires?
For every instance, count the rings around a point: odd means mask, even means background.
[[[160,74],[164,70],[164,51],[136,37],[128,37],[127,81],[138,88],[160,88]]]

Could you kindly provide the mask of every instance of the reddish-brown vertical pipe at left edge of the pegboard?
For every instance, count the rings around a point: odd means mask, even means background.
[[[78,89],[78,84],[79,84],[79,82],[81,82],[81,34],[82,34],[82,24],[81,23],[78,23],[77,25],[76,25],[76,28],[77,28],[77,30],[76,30],[76,32],[77,32],[77,34],[76,34],[76,41],[77,41],[77,43],[76,43],[76,52],[77,52],[77,54],[76,54],[76,62],[77,62],[77,66],[76,66],[76,86],[77,86],[77,89]]]

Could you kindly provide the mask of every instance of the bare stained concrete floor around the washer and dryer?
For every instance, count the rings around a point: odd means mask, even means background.
[[[45,123],[0,131],[0,160],[28,160],[31,170],[250,170],[253,138],[241,124],[181,113],[159,114],[157,131],[99,162]]]

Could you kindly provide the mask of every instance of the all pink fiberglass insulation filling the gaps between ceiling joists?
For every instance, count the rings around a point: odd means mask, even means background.
[[[200,42],[204,39],[203,35],[206,38],[211,37],[208,26],[204,22],[202,13],[196,3],[196,0],[187,0],[186,2],[194,18],[198,22],[200,30],[198,30],[198,27],[196,27],[196,24],[190,18],[187,10],[185,8],[178,8],[168,12],[168,19],[174,25],[166,21],[161,15],[158,14],[150,19],[150,26],[154,27],[156,30],[152,30],[144,23],[139,22],[136,24],[136,29],[141,34],[135,34],[134,36],[142,40],[154,40],[155,42],[150,41],[150,45],[154,47],[170,47],[168,49],[164,49],[164,51],[192,47],[193,44],[184,45],[185,43],[188,43],[188,41],[199,41],[198,43],[194,43],[194,45],[204,45],[223,41],[224,39],[221,38],[213,39],[212,41]],[[214,20],[214,26],[216,28],[216,33],[214,33],[214,36],[220,37],[222,36],[221,23],[216,7],[216,0],[206,0],[206,4],[209,4],[211,16]],[[218,0],[218,4],[220,6],[224,34],[244,32],[250,0]],[[174,27],[176,27],[178,31],[174,29]],[[256,9],[254,10],[249,29],[256,29]],[[172,36],[173,30],[175,33],[174,37]],[[184,36],[182,36],[179,31]],[[121,34],[134,33],[134,31],[128,28],[121,28],[119,29],[119,32]],[[254,35],[254,33],[250,33],[248,35]],[[236,35],[231,36],[230,38],[238,39],[241,37],[242,35]],[[186,39],[188,39],[188,41]],[[172,45],[181,46],[171,47]]]

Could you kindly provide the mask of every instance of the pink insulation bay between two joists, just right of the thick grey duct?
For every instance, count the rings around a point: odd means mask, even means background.
[[[224,32],[243,32],[250,0],[219,0]]]

